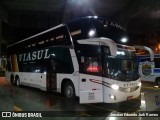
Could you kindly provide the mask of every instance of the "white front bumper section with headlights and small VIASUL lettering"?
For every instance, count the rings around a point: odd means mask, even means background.
[[[140,86],[137,87],[139,84],[140,79],[122,82],[103,78],[104,103],[117,103],[139,97],[141,90]],[[111,85],[118,85],[119,89],[115,90]]]

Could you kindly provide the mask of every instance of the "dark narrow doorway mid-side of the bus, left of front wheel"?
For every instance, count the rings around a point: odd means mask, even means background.
[[[55,60],[51,60],[48,66],[47,72],[47,88],[49,91],[54,91],[57,89],[57,77],[56,77],[56,67],[57,63]]]

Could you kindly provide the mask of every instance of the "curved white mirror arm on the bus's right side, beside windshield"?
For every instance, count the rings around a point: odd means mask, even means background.
[[[134,45],[135,49],[140,49],[140,50],[146,50],[149,52],[150,54],[150,60],[153,61],[154,60],[154,52],[152,51],[151,48],[146,47],[146,46],[140,46],[140,45]]]

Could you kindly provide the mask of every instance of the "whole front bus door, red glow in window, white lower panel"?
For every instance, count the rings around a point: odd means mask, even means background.
[[[100,59],[97,56],[81,56],[80,59],[80,103],[103,102]]]

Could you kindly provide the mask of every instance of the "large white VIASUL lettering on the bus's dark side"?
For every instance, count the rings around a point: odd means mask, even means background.
[[[40,60],[40,59],[47,59],[50,57],[50,54],[48,54],[49,49],[45,50],[38,50],[28,53],[19,54],[19,61],[34,61],[34,60]]]

